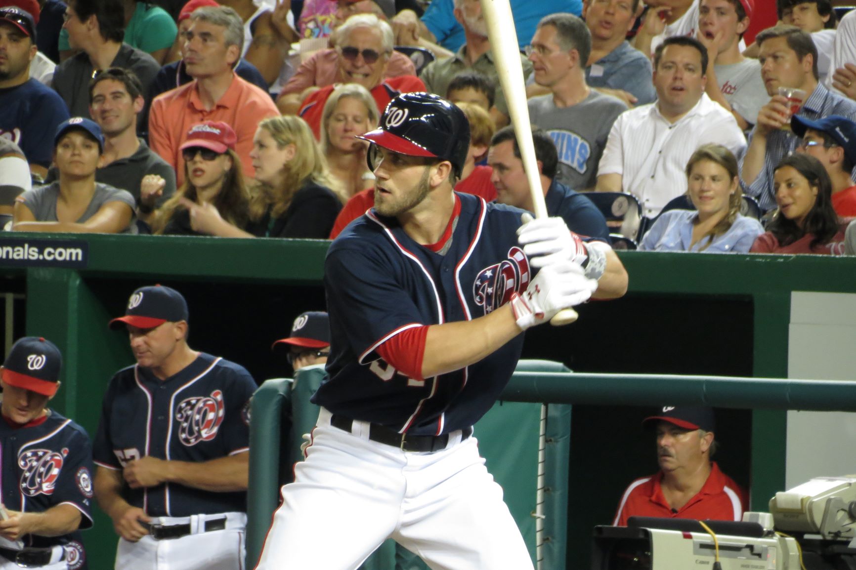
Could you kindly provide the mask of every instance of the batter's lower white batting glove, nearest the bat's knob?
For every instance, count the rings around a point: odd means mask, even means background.
[[[562,309],[586,302],[596,290],[597,280],[586,277],[579,264],[565,261],[547,265],[522,295],[512,295],[514,320],[526,330],[549,321]]]

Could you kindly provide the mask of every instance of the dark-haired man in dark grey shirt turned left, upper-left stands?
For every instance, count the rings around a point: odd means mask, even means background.
[[[62,27],[68,30],[72,49],[80,53],[56,66],[52,86],[72,116],[91,118],[89,81],[102,69],[130,69],[140,79],[142,92],[149,92],[160,65],[145,51],[122,43],[124,14],[122,0],[69,0]],[[137,130],[146,131],[142,118]]]

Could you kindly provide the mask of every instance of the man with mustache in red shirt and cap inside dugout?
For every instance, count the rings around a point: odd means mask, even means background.
[[[642,425],[656,430],[660,471],[636,479],[618,505],[615,526],[633,516],[740,520],[746,494],[710,460],[716,451],[713,409],[666,406]]]

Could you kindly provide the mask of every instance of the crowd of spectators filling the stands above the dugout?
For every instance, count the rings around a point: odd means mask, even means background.
[[[512,1],[551,215],[852,252],[856,14],[777,0],[746,46],[756,1]],[[417,91],[471,122],[455,189],[532,209],[479,0],[265,2],[0,0],[4,229],[334,238],[373,204],[356,137]]]

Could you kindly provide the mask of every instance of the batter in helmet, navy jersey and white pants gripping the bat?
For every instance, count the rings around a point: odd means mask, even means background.
[[[524,330],[621,296],[627,273],[561,218],[524,224],[522,210],[453,192],[470,133],[445,99],[401,94],[362,138],[375,204],[327,254],[321,411],[257,568],[348,570],[388,537],[435,569],[532,568],[473,424]]]

